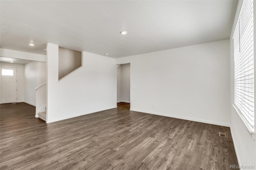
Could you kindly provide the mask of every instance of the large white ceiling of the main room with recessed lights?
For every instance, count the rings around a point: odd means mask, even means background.
[[[1,1],[0,47],[46,55],[49,42],[118,58],[213,42],[230,37],[236,5],[237,0]]]

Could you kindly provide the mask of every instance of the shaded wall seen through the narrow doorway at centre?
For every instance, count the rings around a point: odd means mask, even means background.
[[[130,103],[130,63],[117,68],[117,102]]]

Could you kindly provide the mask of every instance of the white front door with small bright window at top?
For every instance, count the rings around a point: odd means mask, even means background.
[[[17,101],[17,68],[0,67],[0,103]]]

